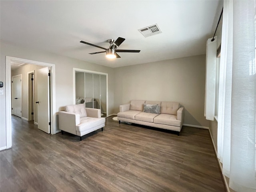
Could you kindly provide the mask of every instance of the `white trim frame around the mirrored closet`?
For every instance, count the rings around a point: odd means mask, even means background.
[[[99,75],[106,75],[106,117],[108,117],[108,74],[98,71],[90,71],[86,69],[73,68],[73,101],[76,104],[76,72],[85,72]]]

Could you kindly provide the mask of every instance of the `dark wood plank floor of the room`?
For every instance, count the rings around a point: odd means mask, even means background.
[[[208,130],[184,126],[177,136],[112,117],[80,142],[13,116],[12,149],[0,152],[0,191],[225,191]]]

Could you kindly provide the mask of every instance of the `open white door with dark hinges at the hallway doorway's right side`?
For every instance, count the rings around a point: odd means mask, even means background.
[[[37,70],[37,119],[38,129],[50,133],[50,78],[48,76],[49,68]]]

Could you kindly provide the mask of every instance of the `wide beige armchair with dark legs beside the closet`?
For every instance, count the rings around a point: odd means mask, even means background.
[[[82,136],[98,130],[105,126],[105,118],[101,117],[100,109],[85,108],[84,104],[70,105],[65,107],[65,111],[59,112],[59,128],[61,133],[69,132]]]

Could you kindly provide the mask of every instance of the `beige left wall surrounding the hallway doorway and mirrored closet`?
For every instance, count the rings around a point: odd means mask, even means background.
[[[4,94],[0,95],[0,149],[6,146],[6,56],[55,64],[56,111],[64,110],[64,106],[73,104],[73,68],[108,73],[108,113],[113,114],[114,72],[112,68],[40,50],[14,46],[3,41],[0,42],[0,50],[0,81],[4,82],[4,87],[1,88],[4,90]],[[56,122],[58,122],[58,115],[56,115]]]

